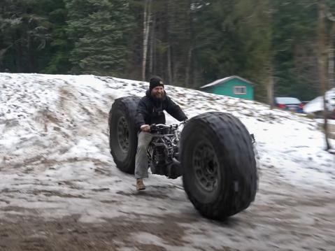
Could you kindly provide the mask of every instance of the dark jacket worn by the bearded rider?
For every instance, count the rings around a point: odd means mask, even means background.
[[[187,120],[183,110],[174,103],[169,96],[164,96],[162,101],[155,100],[149,90],[139,101],[136,110],[136,127],[139,130],[143,124],[165,124],[164,110],[176,120]]]

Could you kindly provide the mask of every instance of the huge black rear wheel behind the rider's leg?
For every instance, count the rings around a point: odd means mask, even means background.
[[[115,99],[109,112],[109,146],[114,162],[121,171],[134,174],[137,148],[136,108],[139,98]]]

